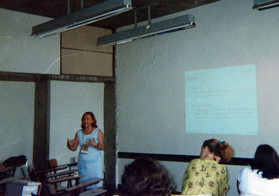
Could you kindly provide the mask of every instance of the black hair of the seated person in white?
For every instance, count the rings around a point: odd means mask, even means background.
[[[258,146],[251,169],[262,172],[263,178],[279,178],[279,157],[276,150],[267,144]]]

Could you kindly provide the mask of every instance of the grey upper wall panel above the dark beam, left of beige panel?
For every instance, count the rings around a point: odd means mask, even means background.
[[[60,35],[39,39],[33,25],[50,20],[0,8],[0,71],[60,73]]]

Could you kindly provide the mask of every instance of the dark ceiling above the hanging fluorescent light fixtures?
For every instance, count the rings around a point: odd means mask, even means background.
[[[105,0],[83,0],[84,8],[93,6]],[[199,7],[219,0],[132,0],[132,6],[151,6],[151,19]],[[81,0],[70,0],[70,13],[80,10]],[[34,14],[49,18],[59,18],[67,15],[67,0],[0,0],[0,8]],[[137,22],[147,21],[147,8],[137,11]],[[102,21],[93,26],[116,29],[134,24],[134,12],[128,11]]]

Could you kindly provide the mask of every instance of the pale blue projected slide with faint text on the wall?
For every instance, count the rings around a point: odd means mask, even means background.
[[[186,132],[257,135],[256,66],[185,72]]]

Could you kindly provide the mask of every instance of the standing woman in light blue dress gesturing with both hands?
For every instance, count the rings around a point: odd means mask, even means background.
[[[75,151],[79,145],[78,173],[85,175],[80,181],[103,177],[103,158],[100,150],[105,149],[103,132],[96,125],[96,119],[92,112],[86,112],[81,118],[81,128],[75,134],[74,139],[67,141],[67,147]],[[101,187],[102,182],[88,188]]]

